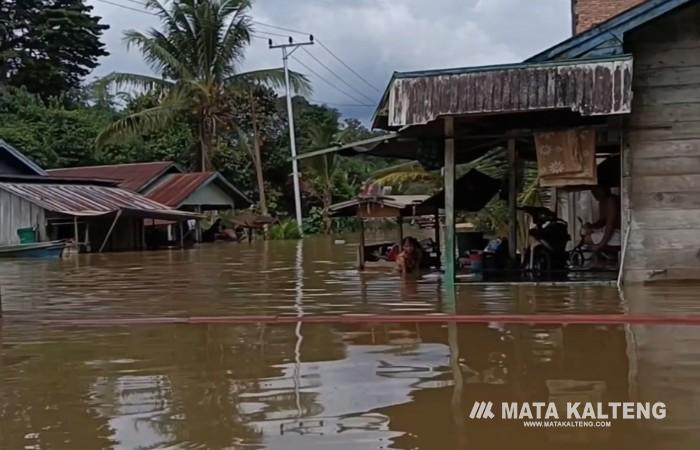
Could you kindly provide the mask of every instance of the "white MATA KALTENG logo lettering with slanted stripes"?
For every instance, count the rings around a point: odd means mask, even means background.
[[[502,420],[663,420],[663,402],[474,402],[470,419],[494,419],[494,409]]]

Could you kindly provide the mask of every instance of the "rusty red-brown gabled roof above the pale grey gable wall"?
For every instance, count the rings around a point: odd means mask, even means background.
[[[219,172],[174,173],[166,175],[161,181],[145,192],[151,200],[173,208],[179,208],[197,190],[216,183],[231,199],[231,203],[252,202],[241,191],[236,189]]]

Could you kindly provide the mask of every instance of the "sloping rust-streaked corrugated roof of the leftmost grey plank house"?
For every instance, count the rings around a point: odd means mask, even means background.
[[[197,214],[174,210],[140,194],[109,186],[0,183],[0,189],[48,211],[70,216],[100,216],[122,210],[149,218],[197,217]]]

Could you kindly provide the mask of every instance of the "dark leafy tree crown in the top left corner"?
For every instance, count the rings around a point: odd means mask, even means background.
[[[0,0],[0,73],[44,99],[74,93],[108,53],[83,0]],[[6,75],[5,75],[6,74]]]

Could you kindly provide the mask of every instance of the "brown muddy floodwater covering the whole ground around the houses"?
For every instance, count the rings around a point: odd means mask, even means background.
[[[697,287],[460,287],[358,274],[331,240],[0,261],[0,449],[696,449],[700,327],[69,326],[220,315],[697,314]],[[476,401],[664,402],[534,429]]]

